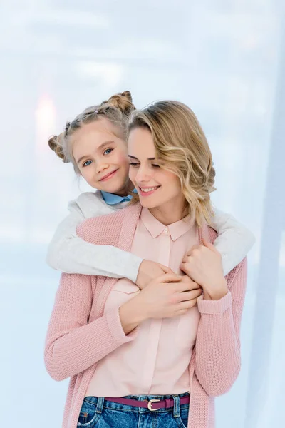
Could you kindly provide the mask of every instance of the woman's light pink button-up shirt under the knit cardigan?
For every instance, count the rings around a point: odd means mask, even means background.
[[[131,252],[181,274],[179,266],[183,256],[198,243],[197,228],[189,217],[165,226],[142,208]],[[138,292],[138,286],[130,280],[118,280],[108,295],[104,313],[123,305]],[[98,362],[86,397],[190,392],[188,365],[199,319],[196,305],[185,315],[142,322],[135,340],[121,345]]]

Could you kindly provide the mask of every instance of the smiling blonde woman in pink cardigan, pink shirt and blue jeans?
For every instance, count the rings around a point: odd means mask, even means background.
[[[77,131],[67,140],[74,165],[82,156],[82,165],[94,160],[84,176],[100,183],[120,163],[102,163],[98,152],[93,158],[78,153],[86,140]],[[207,225],[212,156],[187,106],[166,101],[136,113],[129,156],[138,191],[133,205],[89,218],[78,236],[171,271],[142,290],[127,275],[116,280],[63,273],[45,350],[51,377],[71,377],[63,427],[212,428],[214,397],[227,392],[239,373],[246,262],[224,278],[212,245],[217,233]],[[177,275],[182,272],[187,275]]]

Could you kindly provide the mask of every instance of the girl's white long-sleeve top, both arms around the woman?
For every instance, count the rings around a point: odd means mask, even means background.
[[[76,235],[77,226],[86,218],[98,217],[125,208],[128,202],[108,205],[100,191],[81,193],[68,204],[69,215],[53,235],[46,262],[53,269],[66,273],[126,277],[136,282],[142,258],[112,247],[93,245]],[[222,255],[224,275],[237,266],[254,245],[255,238],[232,215],[214,209],[213,227],[218,233],[214,242]]]

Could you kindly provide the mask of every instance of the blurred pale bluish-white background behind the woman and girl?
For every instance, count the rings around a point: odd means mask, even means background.
[[[256,235],[242,372],[217,428],[284,427],[285,43],[282,1],[1,0],[3,424],[61,427],[68,381],[43,365],[59,272],[46,248],[87,189],[48,148],[67,119],[126,89],[187,103],[207,134],[217,208]],[[8,419],[8,420],[7,420]]]

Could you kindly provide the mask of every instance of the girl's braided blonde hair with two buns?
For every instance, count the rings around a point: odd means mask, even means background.
[[[84,125],[106,118],[115,125],[118,133],[124,140],[127,140],[128,122],[130,114],[135,110],[133,98],[130,91],[124,91],[111,96],[107,101],[103,101],[98,106],[86,108],[78,114],[71,122],[66,122],[64,131],[58,136],[51,136],[48,139],[48,146],[64,163],[71,162],[77,174],[80,173],[76,160],[73,157],[72,136]]]

